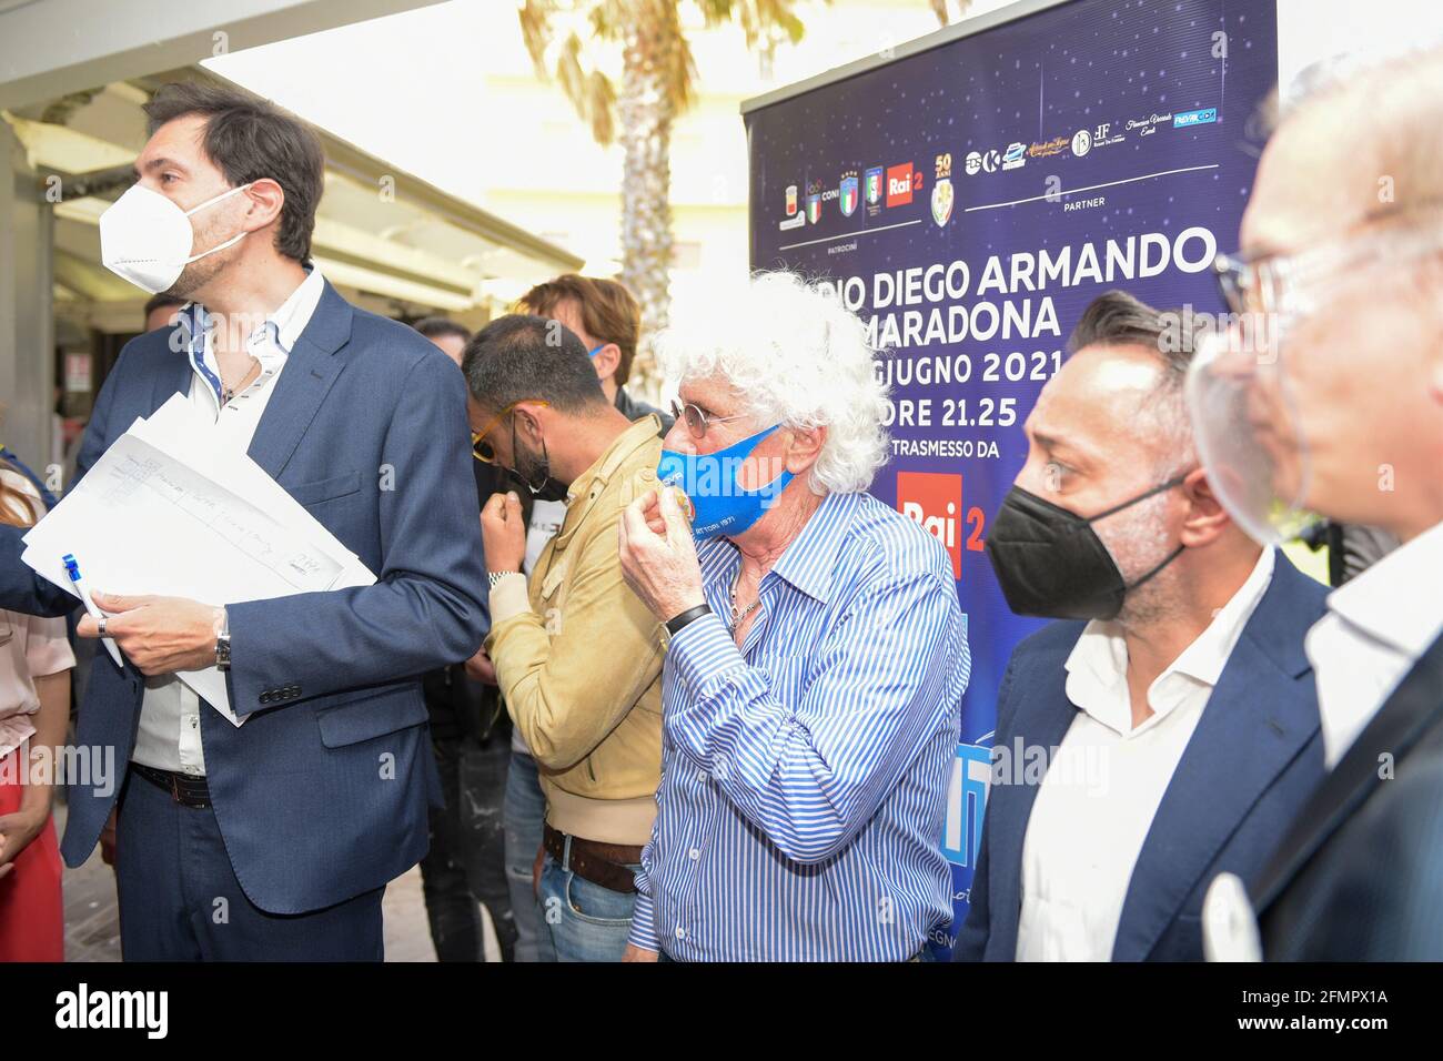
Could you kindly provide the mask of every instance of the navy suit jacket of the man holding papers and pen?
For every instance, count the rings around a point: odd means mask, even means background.
[[[193,371],[170,332],[126,344],[76,478],[137,416],[189,390]],[[302,914],[378,888],[426,853],[440,782],[420,674],[481,645],[485,570],[466,387],[429,339],[328,283],[274,388],[250,456],[377,575],[374,586],[231,605],[231,706],[254,713],[235,728],[201,710],[235,876],[261,909]],[[20,563],[20,536],[0,527],[0,608],[72,611],[72,596]],[[141,693],[134,665],[95,654],[76,743],[113,754],[117,775],[72,780],[71,866],[95,847],[115,801]]]

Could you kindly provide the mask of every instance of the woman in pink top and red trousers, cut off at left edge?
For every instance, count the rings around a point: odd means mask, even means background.
[[[26,527],[43,512],[30,482],[0,462],[0,523]],[[65,959],[51,801],[74,665],[65,619],[0,609],[0,961]]]

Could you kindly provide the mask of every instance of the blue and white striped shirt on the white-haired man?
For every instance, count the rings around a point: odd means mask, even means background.
[[[697,554],[730,614],[736,546]],[[716,615],[671,639],[631,943],[683,961],[916,954],[952,918],[941,837],[970,670],[937,538],[867,494],[824,498],[740,651]]]

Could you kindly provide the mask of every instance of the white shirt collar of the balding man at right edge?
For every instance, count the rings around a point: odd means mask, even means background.
[[[1332,769],[1443,632],[1443,523],[1328,595],[1307,631],[1323,756]]]

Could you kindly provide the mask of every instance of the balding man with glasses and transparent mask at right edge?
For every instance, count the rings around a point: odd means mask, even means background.
[[[1240,523],[1313,511],[1397,543],[1307,635],[1328,777],[1245,899],[1209,896],[1219,957],[1443,961],[1443,48],[1407,45],[1284,94],[1218,268],[1234,319],[1268,326],[1193,370]]]

